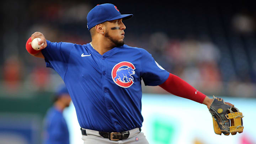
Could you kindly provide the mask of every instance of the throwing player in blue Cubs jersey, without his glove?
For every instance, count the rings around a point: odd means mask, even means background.
[[[27,51],[44,58],[64,80],[74,103],[85,144],[148,144],[141,131],[143,117],[141,80],[161,86],[176,96],[210,107],[213,99],[202,94],[178,76],[162,68],[145,49],[124,44],[123,20],[113,4],[95,6],[87,14],[92,41],[79,45],[50,42],[40,32],[40,51]]]

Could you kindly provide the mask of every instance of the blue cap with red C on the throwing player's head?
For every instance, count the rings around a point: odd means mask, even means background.
[[[117,7],[113,4],[101,4],[95,6],[87,14],[87,28],[90,30],[92,27],[105,21],[117,20],[119,18],[126,20],[131,17],[133,17],[133,14],[121,15]]]

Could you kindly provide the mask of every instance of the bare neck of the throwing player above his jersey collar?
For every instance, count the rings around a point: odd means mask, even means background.
[[[92,39],[91,45],[101,55],[113,48],[109,42],[101,41],[100,39]]]

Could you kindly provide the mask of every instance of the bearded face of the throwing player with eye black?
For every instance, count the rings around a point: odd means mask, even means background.
[[[124,44],[124,30],[126,26],[122,22],[122,18],[108,21],[105,31],[105,37],[114,43],[115,47],[123,46]]]

